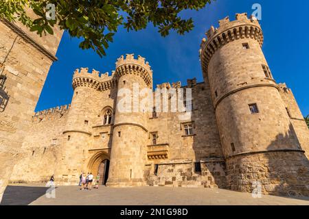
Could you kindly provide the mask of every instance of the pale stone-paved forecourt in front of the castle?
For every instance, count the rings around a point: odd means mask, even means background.
[[[264,196],[207,188],[137,187],[81,191],[78,186],[56,187],[47,198],[43,185],[10,185],[1,205],[309,205],[309,197]]]

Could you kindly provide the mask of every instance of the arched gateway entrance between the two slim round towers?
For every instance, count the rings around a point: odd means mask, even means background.
[[[99,173],[99,184],[105,185],[108,179],[109,155],[104,151],[95,153],[89,160],[88,169],[93,173],[94,177]]]

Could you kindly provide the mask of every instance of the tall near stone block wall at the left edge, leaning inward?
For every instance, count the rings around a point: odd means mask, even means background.
[[[62,31],[55,27],[47,48],[30,39],[30,31],[21,30],[18,25],[0,21],[0,65],[2,75],[7,77],[1,93],[8,95],[7,105],[1,105],[0,112],[0,199],[62,36]]]

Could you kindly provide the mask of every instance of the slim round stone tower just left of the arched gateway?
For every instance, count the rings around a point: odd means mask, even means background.
[[[61,176],[63,183],[76,183],[80,172],[87,171],[85,164],[89,144],[91,144],[91,128],[97,120],[102,94],[102,80],[99,72],[88,68],[76,69],[73,75],[73,97],[67,115],[65,131],[63,131],[63,154]]]

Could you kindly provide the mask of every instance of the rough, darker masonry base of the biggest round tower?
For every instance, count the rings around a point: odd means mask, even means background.
[[[308,166],[304,153],[297,151],[239,155],[227,159],[227,185],[240,192],[309,196]]]

